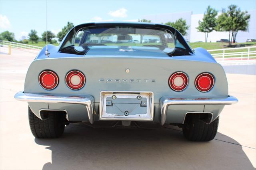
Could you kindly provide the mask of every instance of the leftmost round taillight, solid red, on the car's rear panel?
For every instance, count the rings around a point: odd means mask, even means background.
[[[39,75],[39,83],[46,90],[54,89],[58,85],[58,76],[53,71],[43,71]]]

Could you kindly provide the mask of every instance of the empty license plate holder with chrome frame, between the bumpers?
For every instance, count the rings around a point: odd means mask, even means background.
[[[100,92],[100,120],[152,121],[153,118],[153,92]]]

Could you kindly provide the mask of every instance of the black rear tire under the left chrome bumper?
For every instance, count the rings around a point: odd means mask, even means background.
[[[65,114],[48,113],[48,117],[44,120],[39,119],[34,115],[28,107],[28,121],[32,134],[36,138],[58,138],[65,128]]]

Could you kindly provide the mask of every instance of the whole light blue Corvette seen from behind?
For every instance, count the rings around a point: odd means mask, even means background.
[[[176,29],[151,23],[72,28],[58,47],[42,49],[15,98],[28,102],[37,138],[59,137],[65,125],[82,121],[177,125],[192,141],[212,140],[224,105],[238,101],[210,53],[191,49]]]

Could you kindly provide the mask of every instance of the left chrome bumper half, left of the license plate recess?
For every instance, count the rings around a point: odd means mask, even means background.
[[[47,94],[23,93],[20,91],[14,95],[18,101],[42,102],[42,103],[74,103],[86,107],[90,123],[93,123],[93,102],[94,98],[90,95],[83,96],[54,96]]]

